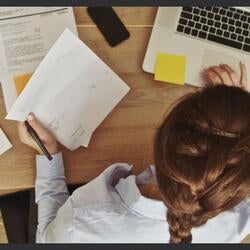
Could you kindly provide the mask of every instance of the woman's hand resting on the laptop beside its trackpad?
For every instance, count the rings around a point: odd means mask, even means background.
[[[235,86],[246,89],[247,86],[247,72],[246,66],[240,63],[240,78],[237,77],[234,70],[227,64],[220,64],[213,66],[203,71],[203,77],[208,85],[225,84],[228,86]]]

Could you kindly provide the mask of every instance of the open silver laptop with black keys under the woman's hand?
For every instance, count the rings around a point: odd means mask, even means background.
[[[245,63],[250,79],[250,7],[159,7],[144,71],[154,73],[159,52],[186,57],[187,84],[202,86],[202,70],[221,63],[239,76]]]

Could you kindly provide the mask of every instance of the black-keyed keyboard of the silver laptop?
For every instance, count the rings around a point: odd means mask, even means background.
[[[183,7],[177,32],[250,52],[250,12],[232,7]]]

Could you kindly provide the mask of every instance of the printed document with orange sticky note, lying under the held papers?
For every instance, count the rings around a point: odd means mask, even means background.
[[[77,34],[72,8],[0,8],[0,81],[7,112],[65,28]]]

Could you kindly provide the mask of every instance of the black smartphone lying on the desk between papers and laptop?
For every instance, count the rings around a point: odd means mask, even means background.
[[[87,12],[110,46],[129,38],[128,30],[111,7],[88,7]]]

